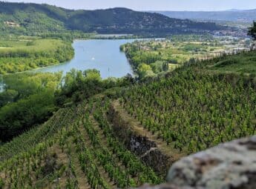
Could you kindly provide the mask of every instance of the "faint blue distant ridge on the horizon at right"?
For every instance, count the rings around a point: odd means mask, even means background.
[[[223,11],[149,11],[161,13],[174,19],[192,19],[198,21],[240,21],[250,23],[256,20],[256,9]]]

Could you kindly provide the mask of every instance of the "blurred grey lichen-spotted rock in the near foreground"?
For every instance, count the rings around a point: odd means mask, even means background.
[[[256,188],[256,136],[217,145],[174,163],[169,184],[142,188]]]

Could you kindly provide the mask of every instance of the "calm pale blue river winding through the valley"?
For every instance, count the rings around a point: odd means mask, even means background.
[[[125,53],[119,50],[120,45],[134,42],[135,39],[91,39],[76,40],[73,42],[75,56],[70,62],[43,67],[33,72],[55,73],[63,71],[63,74],[72,68],[76,70],[99,70],[102,79],[108,77],[120,78],[130,73],[133,74],[131,65],[126,59]]]

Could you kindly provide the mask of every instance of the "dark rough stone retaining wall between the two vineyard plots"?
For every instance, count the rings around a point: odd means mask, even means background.
[[[119,114],[114,107],[108,110],[108,120],[112,123],[116,136],[124,142],[128,150],[131,150],[153,168],[161,176],[166,176],[168,168],[171,166],[171,157],[166,156],[158,148],[154,141],[131,129],[131,125]]]

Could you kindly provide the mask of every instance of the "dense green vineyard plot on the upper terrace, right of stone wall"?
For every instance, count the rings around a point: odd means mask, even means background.
[[[186,153],[256,133],[255,82],[177,70],[123,90],[120,105],[145,130]]]

